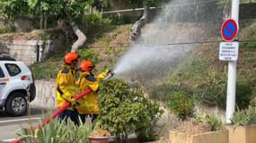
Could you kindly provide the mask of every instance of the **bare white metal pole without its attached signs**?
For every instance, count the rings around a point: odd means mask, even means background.
[[[231,18],[238,23],[239,0],[232,0]],[[235,109],[236,61],[228,62],[225,122],[231,123]]]

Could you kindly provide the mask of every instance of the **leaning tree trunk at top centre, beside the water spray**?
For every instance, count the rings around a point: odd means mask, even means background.
[[[141,29],[144,27],[146,22],[148,21],[148,13],[149,13],[149,6],[144,6],[144,13],[143,16],[135,22],[133,27],[130,29],[130,38],[132,41],[137,41],[137,38],[141,35]]]

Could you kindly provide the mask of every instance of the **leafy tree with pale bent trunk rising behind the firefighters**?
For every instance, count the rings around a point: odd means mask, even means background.
[[[76,51],[86,41],[82,30],[78,29],[75,20],[84,18],[86,10],[93,4],[93,0],[28,0],[31,11],[41,15],[42,21],[47,21],[46,15],[57,17],[58,20],[67,20],[78,37],[71,51]],[[42,22],[41,21],[41,22]],[[41,24],[42,25],[42,24]]]

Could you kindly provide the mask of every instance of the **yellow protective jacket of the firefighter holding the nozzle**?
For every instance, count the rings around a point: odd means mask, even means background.
[[[76,85],[79,86],[79,93],[83,92],[86,88],[91,88],[93,91],[77,102],[80,104],[76,106],[79,114],[99,114],[98,93],[100,81],[107,76],[106,72],[94,76],[88,71],[80,72],[79,80]]]

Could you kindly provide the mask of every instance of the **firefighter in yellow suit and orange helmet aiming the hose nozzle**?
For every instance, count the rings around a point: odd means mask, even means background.
[[[83,98],[78,100],[79,105],[76,109],[80,115],[82,122],[85,122],[86,117],[90,116],[92,121],[95,120],[100,113],[98,93],[100,81],[103,80],[110,71],[103,71],[101,74],[95,76],[93,74],[94,64],[91,61],[83,61],[80,63],[79,70],[80,77],[76,81],[79,87],[79,93],[83,92],[86,88],[91,88],[93,91]],[[112,72],[110,72],[113,74]]]

